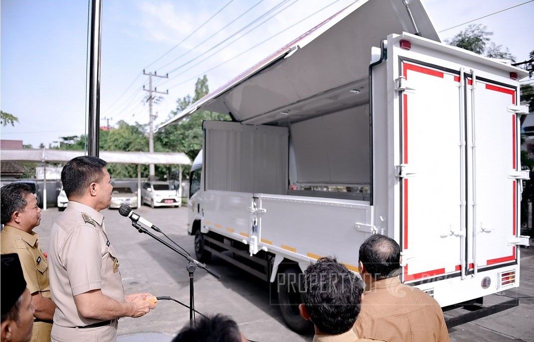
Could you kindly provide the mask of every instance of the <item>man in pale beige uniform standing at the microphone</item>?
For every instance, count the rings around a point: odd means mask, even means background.
[[[52,341],[115,341],[119,317],[140,317],[155,307],[150,293],[124,295],[117,254],[99,211],[111,203],[106,162],[82,156],[61,171],[69,200],[54,221],[50,284],[58,309]]]

